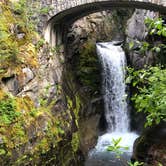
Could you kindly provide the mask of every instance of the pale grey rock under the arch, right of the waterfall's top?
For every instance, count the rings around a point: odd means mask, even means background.
[[[150,12],[147,10],[136,9],[132,17],[128,20],[126,28],[126,43],[134,42],[134,51],[128,50],[128,62],[135,69],[141,69],[144,65],[155,64],[156,57],[152,52],[147,52],[146,56],[137,51],[139,44],[138,41],[145,41],[147,38],[147,29],[144,24],[144,20],[149,18],[155,18],[158,13]]]

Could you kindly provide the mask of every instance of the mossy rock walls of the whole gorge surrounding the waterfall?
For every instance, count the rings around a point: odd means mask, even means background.
[[[84,165],[88,151],[107,126],[95,43],[120,41],[128,65],[135,69],[155,65],[160,59],[150,51],[142,56],[137,41],[151,40],[144,20],[159,13],[140,9],[94,13],[67,29],[64,45],[51,47],[28,27],[33,16],[22,21],[24,4],[20,8],[10,1],[4,3],[0,2],[0,28],[3,26],[1,32],[7,37],[0,40],[0,54],[8,56],[0,59],[0,164]],[[40,13],[43,19],[44,14]],[[135,43],[132,50],[128,47],[131,41]],[[19,49],[12,52],[11,48]],[[145,115],[134,111],[132,101],[130,109],[132,129],[142,133],[135,142],[132,160],[164,166],[165,123],[144,131]],[[10,113],[3,114],[5,110]]]

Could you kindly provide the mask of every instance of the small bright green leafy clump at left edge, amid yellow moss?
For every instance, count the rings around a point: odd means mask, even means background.
[[[20,115],[16,111],[16,104],[14,97],[6,96],[0,100],[0,124],[9,125],[16,120]]]

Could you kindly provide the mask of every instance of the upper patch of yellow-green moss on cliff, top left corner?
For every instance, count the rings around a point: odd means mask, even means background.
[[[24,5],[23,5],[24,4]],[[21,6],[21,7],[20,7]],[[37,67],[37,53],[33,40],[37,40],[35,31],[29,27],[25,1],[17,3],[0,2],[0,78],[19,74],[24,66]],[[20,8],[22,12],[16,12]],[[17,35],[23,34],[22,38]]]

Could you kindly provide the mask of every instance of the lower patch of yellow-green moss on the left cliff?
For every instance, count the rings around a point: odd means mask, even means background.
[[[67,124],[69,124],[68,127],[70,127],[70,121],[72,119],[69,118],[69,120],[64,120],[65,118],[63,118],[63,116],[66,117],[68,115],[67,112],[64,115],[59,115],[57,117],[52,116],[49,111],[51,110],[52,103],[50,103],[51,105],[42,105],[39,108],[35,108],[34,103],[29,97],[20,98],[11,95],[9,97],[9,95],[5,94],[2,90],[0,91],[0,99],[1,113],[6,113],[7,116],[12,118],[13,114],[15,115],[16,112],[19,113],[18,117],[12,119],[12,124],[6,124],[2,121],[0,123],[0,133],[3,140],[3,145],[0,145],[0,149],[3,158],[9,157],[9,154],[12,156],[12,153],[14,152],[13,149],[17,149],[19,152],[19,149],[22,146],[28,145],[28,142],[31,139],[31,135],[28,134],[29,131],[34,132],[35,135],[33,137],[37,139],[33,149],[18,157],[17,161],[15,161],[16,164],[31,162],[29,161],[29,156],[31,156],[30,158],[33,161],[40,161],[41,155],[46,154],[51,148],[56,149],[58,143],[62,141],[65,135],[64,129],[66,129]],[[12,103],[14,103],[14,106]],[[24,111],[23,113],[22,110]],[[12,112],[12,116],[9,112]],[[47,122],[44,130],[42,128],[39,129],[38,127],[40,126],[39,122],[42,118]],[[25,156],[28,157],[25,158]]]

